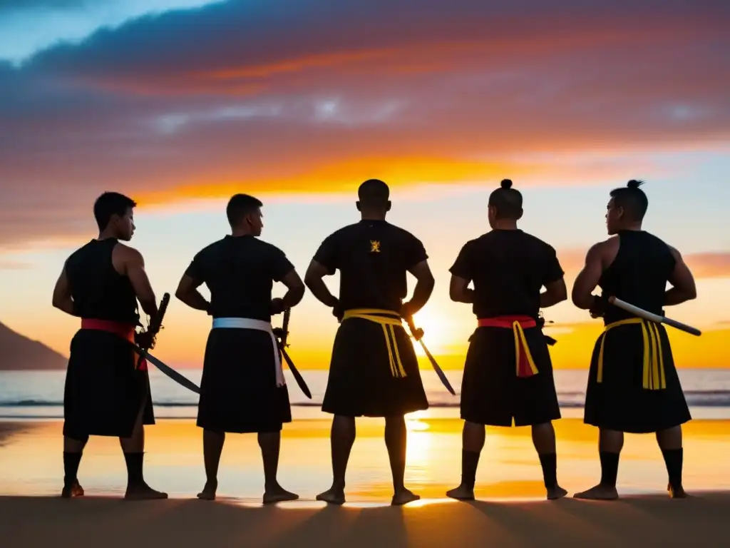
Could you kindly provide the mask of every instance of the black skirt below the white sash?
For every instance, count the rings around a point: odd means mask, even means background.
[[[212,329],[205,347],[198,426],[214,432],[279,432],[291,422],[289,392],[277,388],[271,335]]]

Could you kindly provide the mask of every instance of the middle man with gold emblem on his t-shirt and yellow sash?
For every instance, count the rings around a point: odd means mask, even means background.
[[[393,473],[393,504],[418,500],[404,487],[404,415],[429,407],[418,360],[401,318],[423,308],[434,288],[423,244],[385,221],[388,186],[370,179],[358,189],[361,221],[337,230],[320,245],[304,282],[341,321],[332,349],[322,410],[334,414],[331,489],[318,500],[345,502],[345,469],[355,441],[355,417],[385,417],[385,445]],[[339,270],[339,299],[323,278]],[[410,302],[406,273],[418,280]]]

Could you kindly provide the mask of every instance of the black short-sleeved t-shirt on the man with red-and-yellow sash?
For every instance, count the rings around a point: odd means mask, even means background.
[[[470,240],[449,272],[474,282],[477,318],[537,318],[542,286],[564,275],[555,249],[521,230],[492,230]]]

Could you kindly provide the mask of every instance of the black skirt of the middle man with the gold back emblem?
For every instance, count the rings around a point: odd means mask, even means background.
[[[429,408],[413,344],[401,326],[393,327],[393,335],[404,376],[393,376],[382,325],[361,318],[342,321],[334,338],[322,411],[401,416]]]

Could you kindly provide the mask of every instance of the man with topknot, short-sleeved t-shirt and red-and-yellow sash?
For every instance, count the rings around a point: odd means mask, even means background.
[[[461,384],[461,485],[447,492],[459,500],[474,498],[485,425],[513,423],[532,427],[548,498],[567,494],[557,480],[552,421],[561,414],[539,317],[567,290],[555,249],[518,229],[522,213],[522,194],[503,180],[489,197],[492,230],[467,242],[450,268],[451,300],[472,304],[477,316]]]

